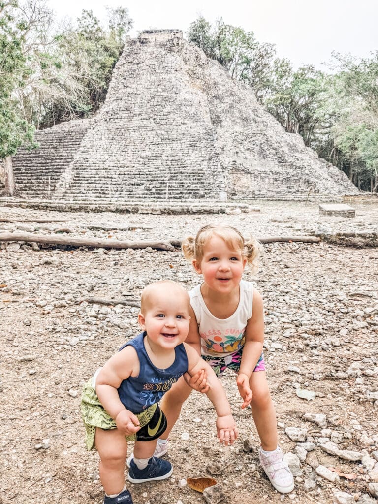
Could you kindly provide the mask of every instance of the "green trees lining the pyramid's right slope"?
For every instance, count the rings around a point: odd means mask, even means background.
[[[310,65],[293,71],[274,45],[222,20],[212,26],[200,17],[187,36],[247,82],[288,133],[301,135],[358,187],[378,192],[378,51],[360,61],[334,53],[332,73]]]

